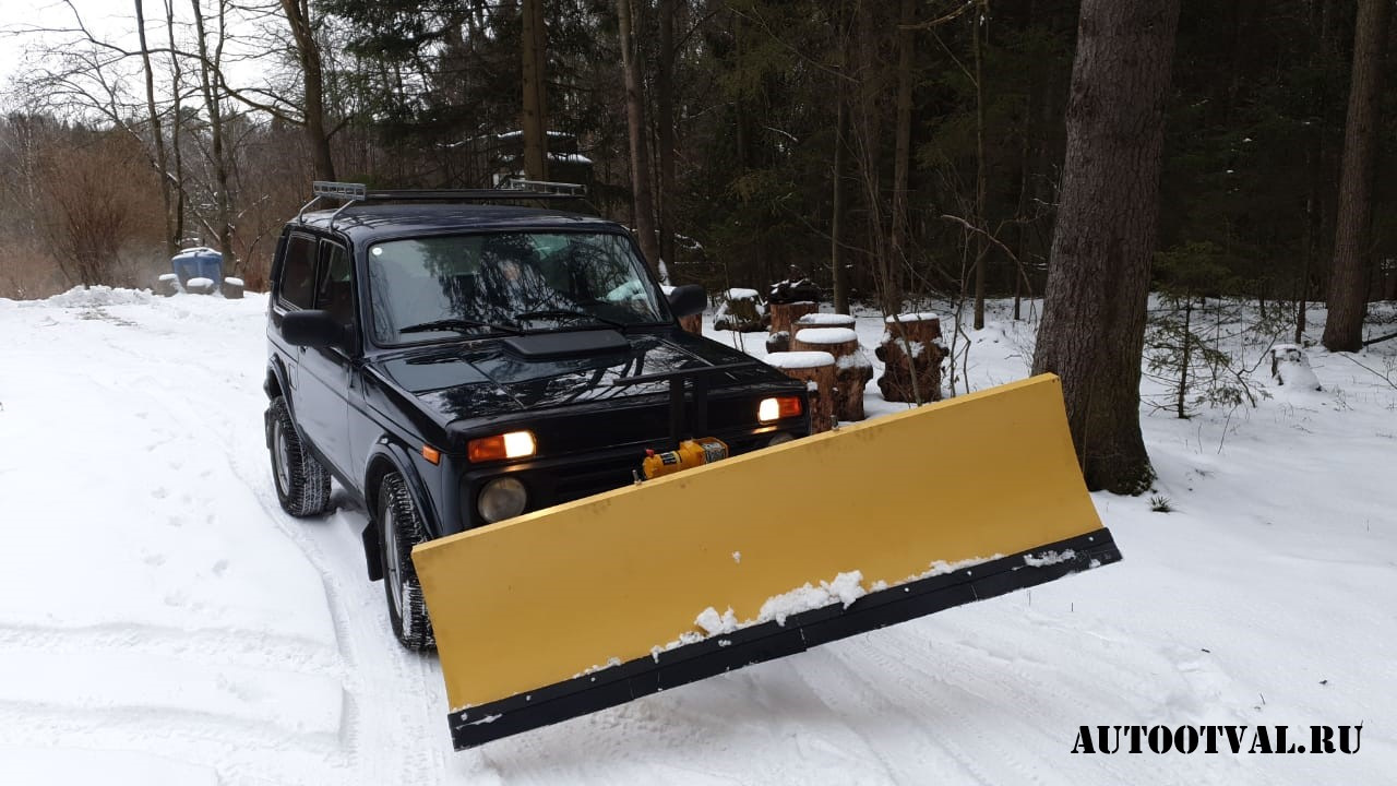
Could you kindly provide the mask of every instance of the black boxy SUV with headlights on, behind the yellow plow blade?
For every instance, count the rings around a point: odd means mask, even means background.
[[[703,291],[666,296],[619,224],[515,204],[549,193],[316,196],[346,201],[303,208],[272,263],[272,476],[293,516],[328,508],[331,477],[363,505],[412,649],[433,643],[414,544],[633,483],[685,438],[809,432],[803,383],[682,330]]]

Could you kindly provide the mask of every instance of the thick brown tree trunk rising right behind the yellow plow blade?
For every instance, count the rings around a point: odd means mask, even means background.
[[[1150,488],[1140,361],[1179,0],[1083,0],[1034,373],[1062,378],[1087,487]]]

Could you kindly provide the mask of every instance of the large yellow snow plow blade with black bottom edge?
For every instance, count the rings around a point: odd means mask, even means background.
[[[458,750],[1116,562],[1044,375],[419,544]]]

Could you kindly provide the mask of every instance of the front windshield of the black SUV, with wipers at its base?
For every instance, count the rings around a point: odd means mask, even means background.
[[[493,232],[369,248],[377,344],[668,319],[622,235]]]

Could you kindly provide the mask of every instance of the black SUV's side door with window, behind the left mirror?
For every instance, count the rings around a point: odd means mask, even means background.
[[[332,239],[320,238],[316,257],[313,308],[351,326],[353,266],[348,249]],[[345,347],[305,347],[300,351],[296,422],[341,478],[351,474],[349,413],[345,400],[351,358]]]

